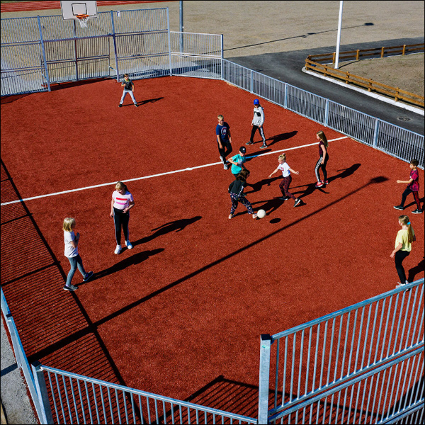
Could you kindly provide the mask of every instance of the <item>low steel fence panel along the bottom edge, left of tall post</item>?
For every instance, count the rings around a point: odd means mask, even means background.
[[[57,424],[256,424],[232,414],[45,365],[43,371]]]

